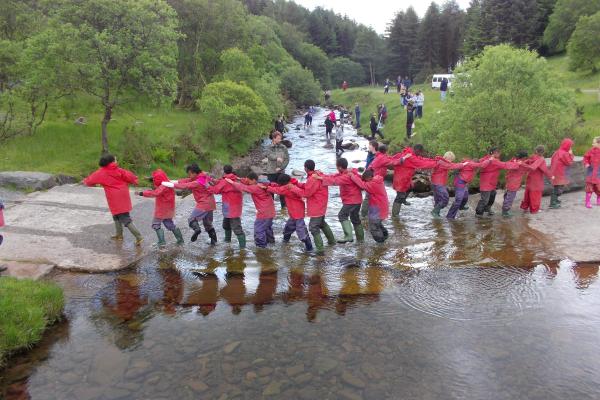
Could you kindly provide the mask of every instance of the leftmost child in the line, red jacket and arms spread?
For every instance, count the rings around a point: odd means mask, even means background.
[[[129,185],[137,185],[137,176],[132,172],[119,168],[115,156],[105,154],[100,158],[100,169],[83,180],[86,186],[100,185],[104,188],[108,208],[113,215],[116,234],[112,238],[123,240],[123,226],[135,236],[135,244],[139,246],[144,239],[135,227],[129,212],[132,209]]]

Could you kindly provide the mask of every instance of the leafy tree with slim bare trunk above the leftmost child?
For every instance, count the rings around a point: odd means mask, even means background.
[[[177,82],[177,18],[162,0],[62,0],[53,3],[50,43],[75,49],[62,59],[44,60],[76,71],[72,82],[104,108],[102,151],[108,152],[108,124],[116,106],[140,94],[172,99]]]

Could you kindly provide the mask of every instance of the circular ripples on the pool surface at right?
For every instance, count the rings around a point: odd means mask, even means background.
[[[423,313],[457,321],[512,320],[540,307],[543,293],[532,270],[512,267],[411,271],[395,295]]]

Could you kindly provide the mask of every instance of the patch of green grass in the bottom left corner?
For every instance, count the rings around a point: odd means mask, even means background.
[[[37,343],[63,307],[62,289],[53,283],[0,278],[0,367],[11,353]]]

